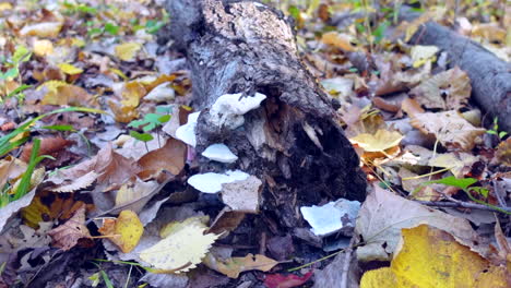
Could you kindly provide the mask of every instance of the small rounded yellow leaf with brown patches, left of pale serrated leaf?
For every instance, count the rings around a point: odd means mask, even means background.
[[[122,252],[132,251],[144,233],[144,226],[139,216],[132,211],[122,211],[117,219],[106,219],[99,232],[110,236],[109,240],[118,245]]]

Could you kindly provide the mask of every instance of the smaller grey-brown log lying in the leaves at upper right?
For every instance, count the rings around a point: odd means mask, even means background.
[[[472,97],[484,111],[499,118],[499,128],[511,132],[511,65],[477,43],[435,22],[419,27],[411,44],[435,45],[448,52],[449,67],[459,65],[472,84]]]

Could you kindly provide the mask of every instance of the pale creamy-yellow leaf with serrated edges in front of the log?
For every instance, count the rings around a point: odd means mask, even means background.
[[[204,235],[204,227],[197,225],[183,227],[142,251],[140,257],[155,268],[187,272],[201,263],[211,244],[218,238],[214,233]]]

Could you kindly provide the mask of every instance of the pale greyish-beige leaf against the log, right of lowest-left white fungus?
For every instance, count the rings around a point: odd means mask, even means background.
[[[222,184],[222,201],[233,211],[259,213],[262,182],[254,176],[246,180]]]

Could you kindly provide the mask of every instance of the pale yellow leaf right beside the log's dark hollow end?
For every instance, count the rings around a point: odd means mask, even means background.
[[[397,146],[403,139],[397,131],[388,131],[380,129],[375,134],[363,133],[349,139],[366,152],[384,152],[385,149]]]

